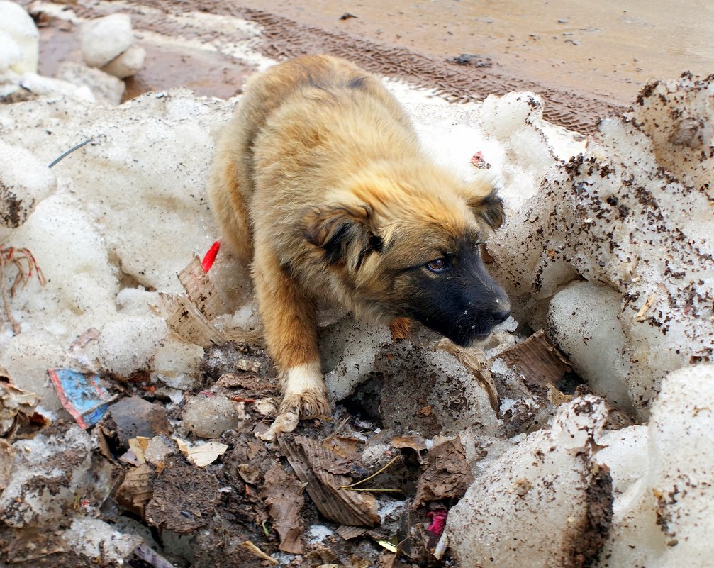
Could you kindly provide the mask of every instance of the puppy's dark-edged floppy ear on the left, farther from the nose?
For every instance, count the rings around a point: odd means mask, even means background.
[[[303,235],[322,249],[330,264],[345,263],[359,269],[364,256],[381,250],[381,239],[371,231],[372,208],[358,206],[308,206],[303,214]]]

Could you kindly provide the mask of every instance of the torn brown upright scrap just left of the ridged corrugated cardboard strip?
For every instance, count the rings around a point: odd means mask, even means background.
[[[280,536],[280,548],[290,554],[302,554],[300,535],[303,523],[300,510],[305,504],[303,486],[298,479],[288,474],[281,464],[273,464],[265,474],[261,499],[266,502],[268,515],[273,519],[273,528]]]

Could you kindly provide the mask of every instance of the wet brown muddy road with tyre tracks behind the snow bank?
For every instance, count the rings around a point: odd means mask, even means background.
[[[91,18],[121,9],[132,15],[146,65],[127,81],[126,98],[146,90],[187,86],[197,94],[239,94],[250,64],[202,46],[241,39],[241,30],[198,29],[166,17],[203,12],[258,24],[256,49],[287,59],[308,53],[346,56],[361,66],[412,84],[437,89],[451,101],[530,90],[546,101],[545,117],[586,134],[595,122],[622,111],[652,77],[673,78],[685,69],[707,74],[714,64],[708,38],[714,5],[677,1],[671,10],[636,0],[621,9],[615,0],[587,8],[565,0],[542,6],[515,0],[329,4],[280,0],[143,0],[119,7],[72,6]],[[157,12],[158,11],[158,12]],[[673,18],[673,12],[676,17]],[[344,14],[355,17],[343,18]],[[41,29],[41,72],[60,61],[79,60],[65,21]],[[142,41],[141,33],[149,32]],[[156,44],[151,34],[164,40]],[[153,39],[152,39],[153,38]],[[201,49],[176,41],[198,40]],[[169,41],[173,39],[174,41]]]

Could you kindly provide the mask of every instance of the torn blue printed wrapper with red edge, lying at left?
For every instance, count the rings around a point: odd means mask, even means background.
[[[81,428],[94,426],[116,396],[101,386],[99,377],[72,369],[48,369],[47,374],[62,406]]]

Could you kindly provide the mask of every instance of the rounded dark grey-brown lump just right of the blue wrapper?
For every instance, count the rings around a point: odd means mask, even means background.
[[[139,397],[126,397],[109,407],[109,416],[116,427],[121,447],[129,447],[129,439],[154,437],[171,432],[166,410]]]

